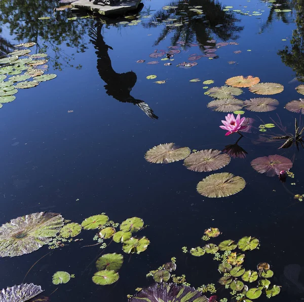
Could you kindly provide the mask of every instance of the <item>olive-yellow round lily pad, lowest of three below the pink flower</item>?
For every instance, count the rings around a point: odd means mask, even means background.
[[[231,173],[216,173],[207,176],[197,185],[198,192],[206,197],[227,197],[245,188],[245,180]]]

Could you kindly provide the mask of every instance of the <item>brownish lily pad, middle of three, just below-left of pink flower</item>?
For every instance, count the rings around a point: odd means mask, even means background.
[[[208,149],[192,153],[184,160],[188,170],[196,172],[209,172],[221,169],[230,163],[230,156],[219,150]]]

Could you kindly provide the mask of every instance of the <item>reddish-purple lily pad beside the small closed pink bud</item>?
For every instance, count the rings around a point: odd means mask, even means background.
[[[279,175],[282,170],[288,171],[292,167],[292,161],[281,155],[269,155],[255,158],[251,161],[253,169],[267,176]]]

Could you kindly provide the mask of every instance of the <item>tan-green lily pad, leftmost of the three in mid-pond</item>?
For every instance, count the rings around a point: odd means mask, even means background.
[[[174,143],[168,143],[151,148],[144,157],[148,162],[169,163],[185,159],[190,153],[188,147],[179,148]]]

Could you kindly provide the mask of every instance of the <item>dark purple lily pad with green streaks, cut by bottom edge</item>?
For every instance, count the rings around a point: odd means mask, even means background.
[[[129,300],[129,302],[142,301],[208,302],[208,298],[194,287],[177,285],[176,283],[155,283],[142,289]]]

